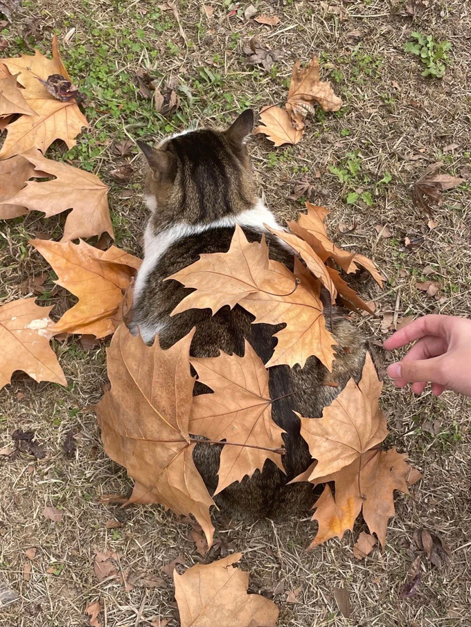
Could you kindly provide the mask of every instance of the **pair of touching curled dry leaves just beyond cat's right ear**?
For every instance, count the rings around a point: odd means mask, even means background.
[[[297,144],[305,130],[305,118],[314,113],[314,104],[323,111],[339,111],[341,98],[335,96],[329,82],[320,80],[319,60],[301,67],[294,64],[285,109],[271,105],[260,113],[260,126],[254,133],[263,133],[275,146]]]

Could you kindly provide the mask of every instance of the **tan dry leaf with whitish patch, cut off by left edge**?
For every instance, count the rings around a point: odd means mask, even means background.
[[[10,383],[15,370],[35,381],[67,385],[55,352],[49,346],[53,335],[52,307],[39,307],[35,298],[20,298],[0,307],[0,389]]]

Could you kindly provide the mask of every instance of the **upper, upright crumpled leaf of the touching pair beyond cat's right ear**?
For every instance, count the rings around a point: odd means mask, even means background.
[[[286,110],[292,125],[300,131],[305,126],[305,116],[312,113],[315,103],[323,111],[338,111],[341,107],[341,98],[335,96],[330,82],[323,82],[319,78],[319,60],[316,56],[305,68],[301,68],[301,61],[294,64]]]

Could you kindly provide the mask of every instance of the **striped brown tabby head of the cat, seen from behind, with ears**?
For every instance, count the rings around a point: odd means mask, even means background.
[[[205,224],[250,209],[258,196],[246,138],[254,126],[247,109],[224,130],[200,129],[164,139],[139,141],[147,163],[144,193],[159,228]]]

